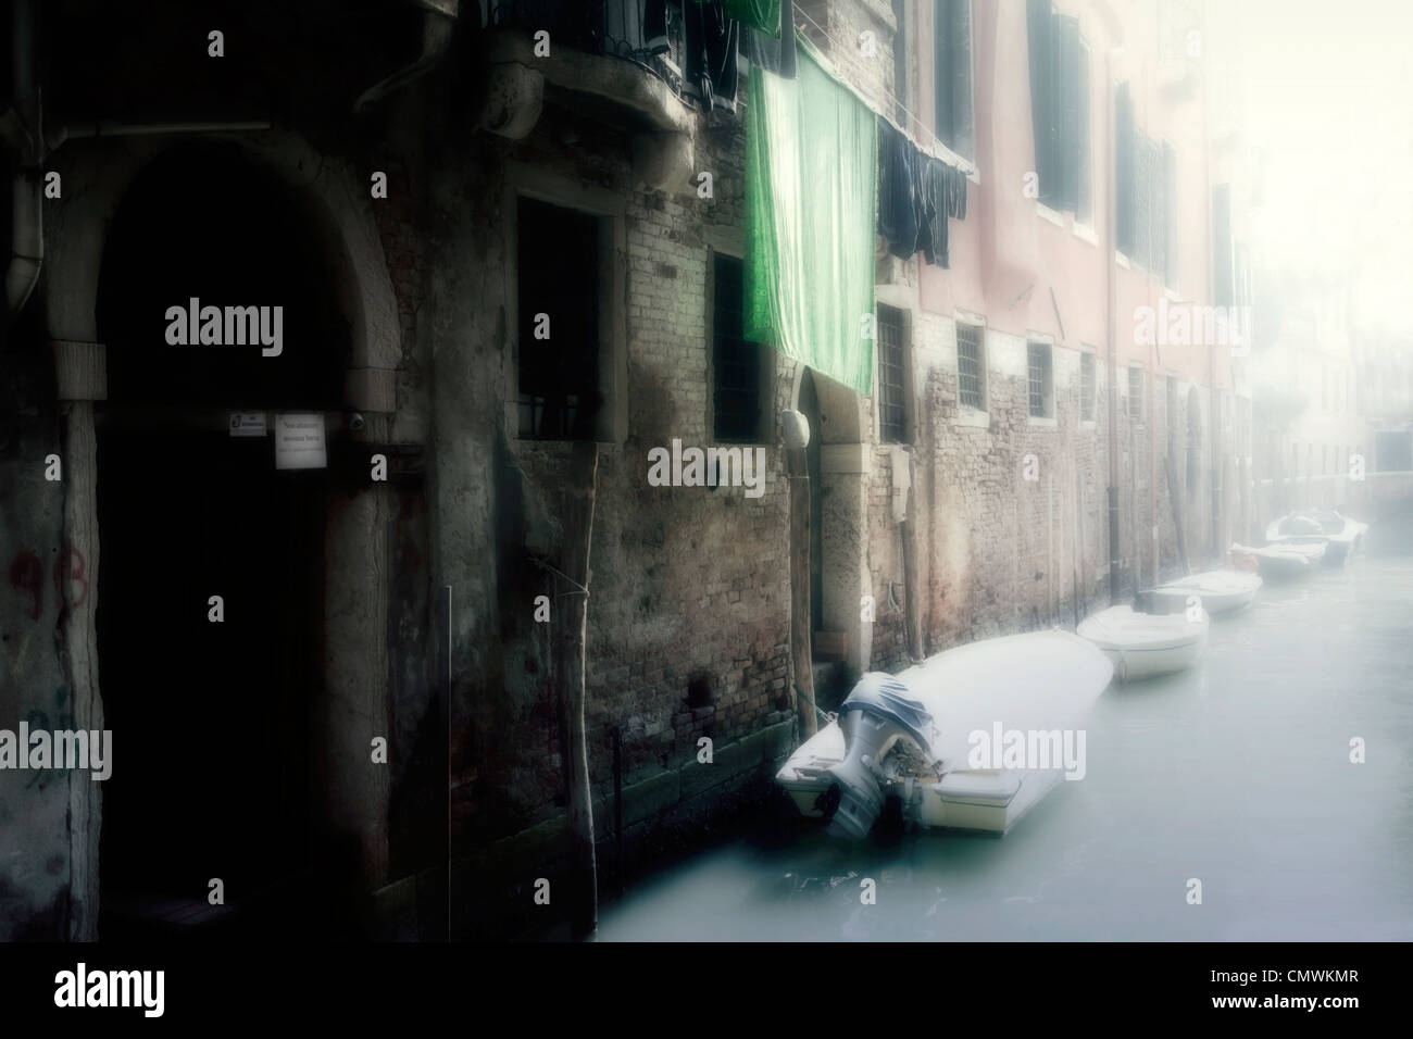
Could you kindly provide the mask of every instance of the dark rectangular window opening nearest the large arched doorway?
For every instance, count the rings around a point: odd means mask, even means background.
[[[593,440],[599,386],[599,219],[521,198],[519,433]]]

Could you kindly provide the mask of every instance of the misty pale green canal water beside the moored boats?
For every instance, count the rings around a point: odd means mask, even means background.
[[[739,840],[603,906],[599,940],[1413,940],[1413,520],[1267,582],[1085,731],[1085,777],[1005,838]]]

